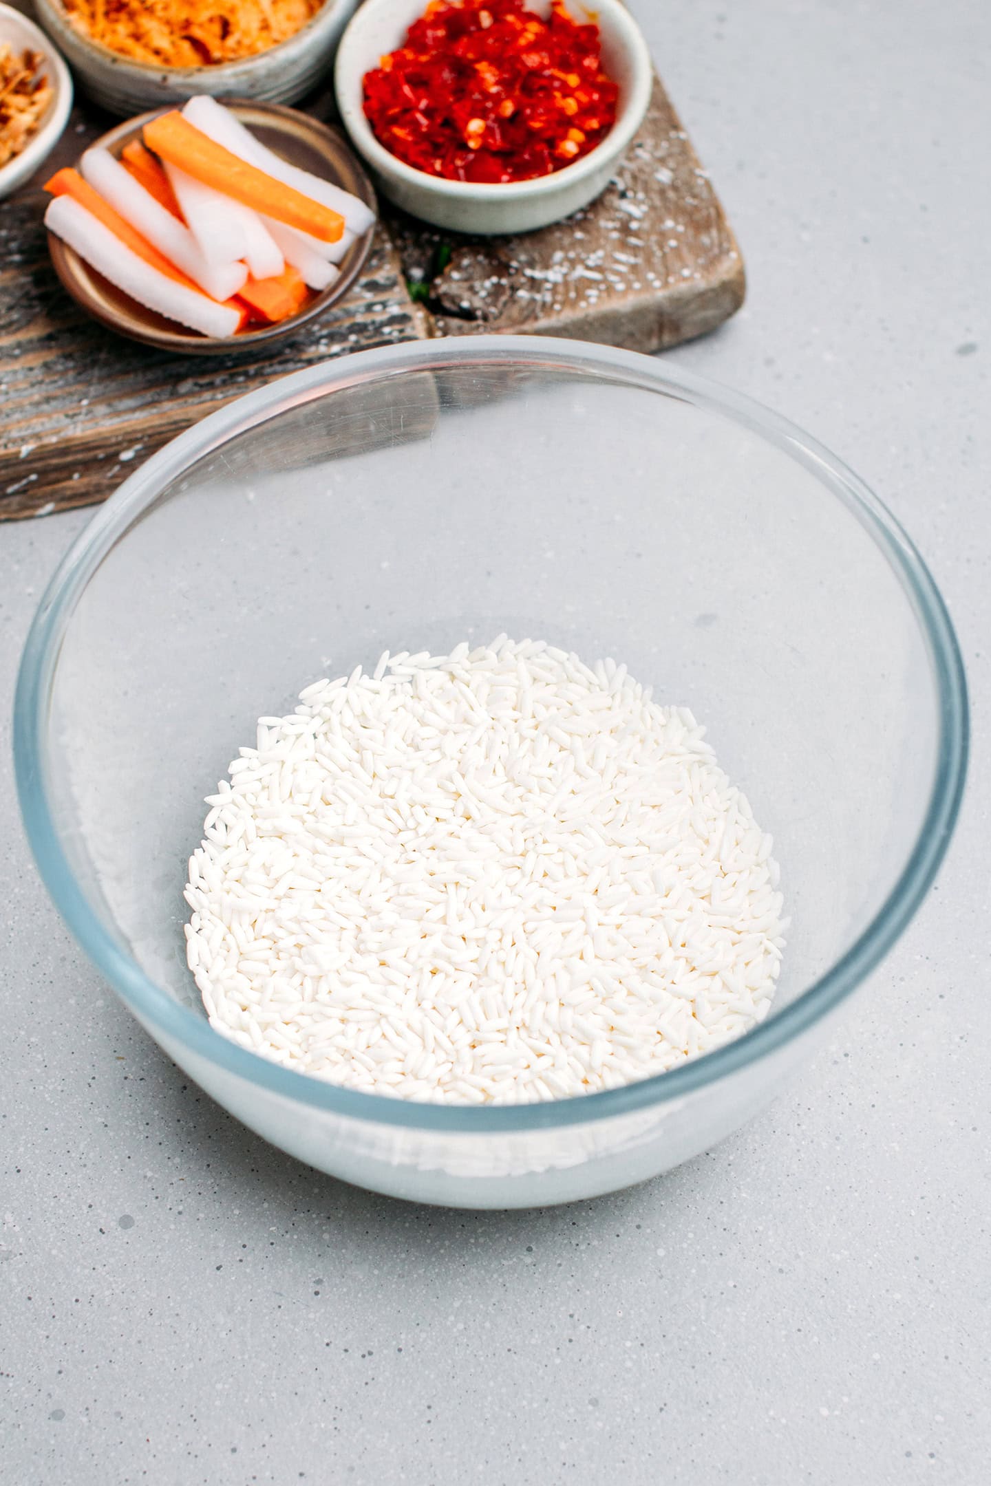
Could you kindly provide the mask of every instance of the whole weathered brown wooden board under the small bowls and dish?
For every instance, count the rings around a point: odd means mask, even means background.
[[[333,97],[305,107],[328,119]],[[657,80],[615,180],[568,221],[471,239],[386,210],[361,279],[296,339],[251,361],[156,352],[68,299],[42,226],[42,183],[111,122],[77,106],[55,155],[0,207],[0,520],[103,501],[199,418],[349,351],[477,331],[658,351],[743,303],[735,239]]]

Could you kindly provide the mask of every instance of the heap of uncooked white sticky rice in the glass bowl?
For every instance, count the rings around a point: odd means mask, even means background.
[[[370,1094],[510,1104],[761,1021],[771,838],[685,707],[499,636],[318,681],[208,796],[189,966],[211,1025]]]

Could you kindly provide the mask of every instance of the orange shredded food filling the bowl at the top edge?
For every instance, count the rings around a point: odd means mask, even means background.
[[[209,67],[266,52],[324,0],[64,0],[73,25],[119,56],[157,67]]]

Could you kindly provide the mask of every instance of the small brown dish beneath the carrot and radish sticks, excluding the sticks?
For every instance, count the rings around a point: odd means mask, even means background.
[[[311,119],[296,108],[284,108],[279,104],[238,103],[224,100],[230,111],[253,134],[293,165],[299,165],[313,175],[322,175],[343,190],[360,196],[368,207],[376,210],[374,190],[371,181],[363,171],[357,158],[346,144],[316,119]],[[165,108],[143,113],[137,119],[128,119],[110,129],[94,147],[110,150],[119,156],[125,144],[141,138],[141,129]],[[337,265],[339,273],[334,282],[313,297],[290,319],[282,319],[276,325],[259,325],[257,330],[242,330],[229,339],[215,336],[201,336],[196,330],[165,319],[163,315],[146,309],[128,294],[110,284],[101,273],[91,269],[79,254],[65,242],[49,232],[48,247],[52,263],[59,279],[94,319],[98,319],[110,330],[131,340],[141,340],[147,346],[159,346],[162,351],[178,351],[184,355],[230,355],[232,352],[253,351],[256,346],[269,346],[276,340],[288,340],[308,319],[321,315],[330,305],[334,305],[348,293],[357,279],[371,248],[374,226],[368,227],[348,248],[348,253]]]

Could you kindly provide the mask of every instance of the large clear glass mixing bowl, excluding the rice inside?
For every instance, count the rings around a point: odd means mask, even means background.
[[[660,1077],[502,1109],[345,1091],[223,1039],[183,886],[256,718],[386,646],[499,630],[623,660],[709,725],[782,865],[770,1018]],[[770,1100],[926,892],[966,739],[939,593],[825,449],[670,363],[486,336],[300,372],[155,455],[52,580],[15,718],[52,898],[169,1057],[302,1161],[462,1207],[639,1181]]]

